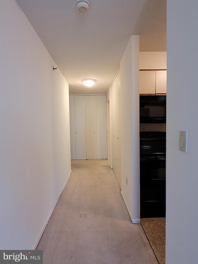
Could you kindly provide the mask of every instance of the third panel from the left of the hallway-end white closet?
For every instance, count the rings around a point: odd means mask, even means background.
[[[87,159],[97,159],[96,96],[85,96]]]

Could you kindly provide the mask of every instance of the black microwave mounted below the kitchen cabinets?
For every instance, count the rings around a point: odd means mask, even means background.
[[[166,95],[140,95],[140,123],[166,123]]]

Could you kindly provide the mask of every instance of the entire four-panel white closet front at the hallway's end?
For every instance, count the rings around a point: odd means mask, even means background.
[[[72,95],[71,159],[107,158],[106,95]]]

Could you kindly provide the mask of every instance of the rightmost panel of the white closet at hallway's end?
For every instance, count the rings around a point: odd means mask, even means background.
[[[107,106],[106,95],[96,96],[97,158],[107,158]]]

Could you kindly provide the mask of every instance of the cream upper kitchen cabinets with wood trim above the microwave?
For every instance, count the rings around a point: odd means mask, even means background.
[[[140,94],[166,94],[166,70],[140,71]]]

